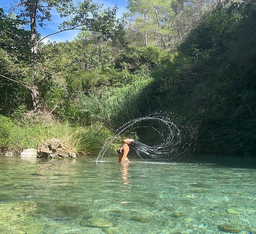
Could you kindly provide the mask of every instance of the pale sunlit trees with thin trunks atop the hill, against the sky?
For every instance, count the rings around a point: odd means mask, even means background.
[[[216,5],[209,0],[128,0],[127,35],[137,46],[173,48]]]

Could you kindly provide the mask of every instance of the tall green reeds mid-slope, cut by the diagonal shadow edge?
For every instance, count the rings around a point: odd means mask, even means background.
[[[80,94],[79,102],[91,121],[120,125],[148,111],[152,82],[150,77],[138,76],[135,82],[123,84],[120,88],[105,87],[88,95]]]

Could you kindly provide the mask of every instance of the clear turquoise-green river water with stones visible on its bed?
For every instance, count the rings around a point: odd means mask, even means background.
[[[255,163],[0,156],[0,233],[256,233]]]

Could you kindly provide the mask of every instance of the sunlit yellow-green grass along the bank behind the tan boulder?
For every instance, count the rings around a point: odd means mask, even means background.
[[[0,116],[0,151],[22,152],[27,148],[38,148],[50,138],[57,138],[72,151],[85,154],[98,154],[105,140],[113,133],[100,123],[76,127],[68,122],[61,123],[18,123]]]

